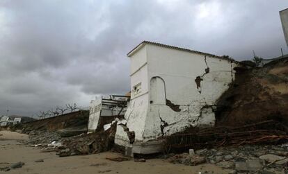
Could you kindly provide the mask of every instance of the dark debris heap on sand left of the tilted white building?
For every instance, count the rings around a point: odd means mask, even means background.
[[[116,124],[106,131],[61,137],[58,132],[31,131],[26,141],[33,147],[41,148],[42,153],[57,152],[60,157],[88,155],[111,150],[114,145]]]

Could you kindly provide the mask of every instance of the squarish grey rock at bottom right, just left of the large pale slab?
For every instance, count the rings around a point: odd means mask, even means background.
[[[257,171],[259,168],[262,168],[259,159],[248,159],[246,162],[235,163],[235,170],[237,171]]]

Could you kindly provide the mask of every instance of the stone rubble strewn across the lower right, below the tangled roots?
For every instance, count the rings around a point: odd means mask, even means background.
[[[211,149],[190,149],[189,153],[168,154],[169,162],[195,166],[198,164],[216,164],[229,168],[231,173],[288,173],[288,143],[282,145],[245,145]],[[209,172],[208,172],[209,173]]]

